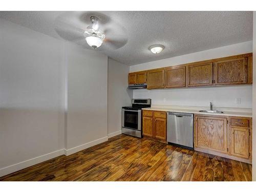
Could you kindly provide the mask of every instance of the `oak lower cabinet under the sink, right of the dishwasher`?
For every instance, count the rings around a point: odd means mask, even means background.
[[[251,121],[245,117],[195,115],[195,151],[251,163]]]

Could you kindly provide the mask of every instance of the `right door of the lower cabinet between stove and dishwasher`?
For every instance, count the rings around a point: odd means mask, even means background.
[[[156,117],[154,121],[154,137],[166,140],[166,119]]]

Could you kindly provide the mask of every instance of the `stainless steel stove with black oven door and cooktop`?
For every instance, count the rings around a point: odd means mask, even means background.
[[[132,99],[132,106],[122,107],[122,133],[142,138],[142,108],[150,108],[151,99]]]

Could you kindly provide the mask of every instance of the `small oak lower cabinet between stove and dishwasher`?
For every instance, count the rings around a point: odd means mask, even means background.
[[[142,133],[166,142],[166,112],[143,110]]]

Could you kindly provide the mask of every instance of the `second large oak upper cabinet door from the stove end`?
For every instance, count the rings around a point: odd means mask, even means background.
[[[186,86],[186,67],[170,67],[165,69],[165,87],[178,88]]]

